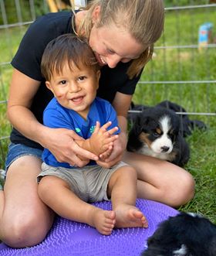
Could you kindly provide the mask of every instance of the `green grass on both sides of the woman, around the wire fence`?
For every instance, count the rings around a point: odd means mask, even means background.
[[[215,8],[166,12],[164,36],[156,46],[197,44],[199,26],[204,22],[216,26]],[[192,24],[192,26],[191,26]],[[8,29],[0,33],[0,54],[2,62],[9,62],[15,54],[26,27]],[[178,31],[178,29],[180,29]],[[143,71],[143,81],[175,80],[216,80],[215,48],[204,49],[155,49],[154,59]],[[8,95],[11,78],[10,65],[0,66],[0,101]],[[169,100],[181,104],[190,112],[215,112],[215,84],[139,84],[133,96],[137,104],[154,105]],[[11,129],[5,117],[6,106],[0,104],[0,137],[9,134]],[[194,200],[180,208],[190,212],[202,213],[216,224],[216,117],[206,115],[190,116],[191,119],[204,121],[207,131],[194,131],[187,138],[191,147],[191,159],[185,166],[196,180]],[[0,140],[0,168],[4,167],[8,139]]]

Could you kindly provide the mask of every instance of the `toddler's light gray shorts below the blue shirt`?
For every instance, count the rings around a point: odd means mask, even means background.
[[[43,176],[57,176],[69,184],[70,189],[85,202],[93,203],[109,200],[106,189],[110,176],[122,166],[128,166],[125,162],[119,162],[110,169],[101,166],[85,166],[83,168],[66,169],[53,167],[42,163],[42,172],[37,177],[38,183]]]

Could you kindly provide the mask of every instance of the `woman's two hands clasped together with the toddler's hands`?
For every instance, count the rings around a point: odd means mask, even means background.
[[[75,131],[66,128],[46,128],[42,145],[49,148],[59,162],[68,162],[71,166],[83,167],[92,159],[104,168],[110,168],[120,161],[125,150],[125,143],[122,132],[120,135],[113,135],[118,128],[107,131],[111,123],[108,122],[102,127],[96,123],[96,128],[90,139],[90,147],[93,151],[83,148],[84,138],[81,138]],[[122,137],[122,138],[121,138]]]

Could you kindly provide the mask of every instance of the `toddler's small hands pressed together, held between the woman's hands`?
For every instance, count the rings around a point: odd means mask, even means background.
[[[100,123],[96,121],[96,128],[93,131],[93,135],[89,138],[91,152],[94,154],[101,155],[107,152],[110,155],[113,149],[113,142],[118,138],[118,135],[113,135],[118,131],[117,127],[107,131],[107,128],[109,128],[111,124],[111,121],[109,121],[100,127]],[[106,157],[108,157],[108,155],[106,155]]]

